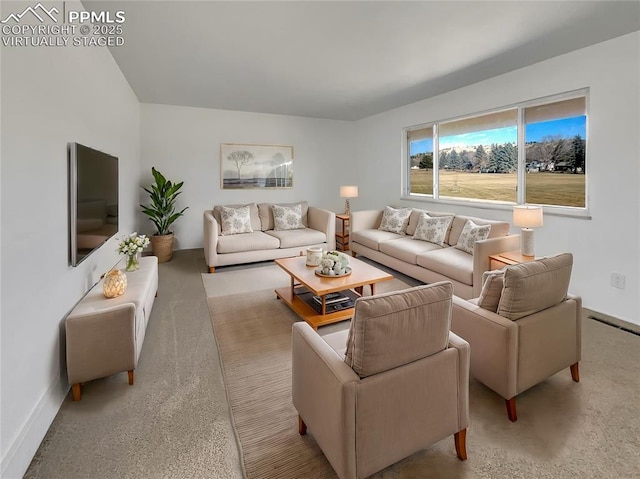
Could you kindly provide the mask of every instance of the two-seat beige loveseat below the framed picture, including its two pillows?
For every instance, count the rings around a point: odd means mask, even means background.
[[[218,266],[298,256],[308,247],[333,250],[335,223],[335,213],[306,201],[216,205],[204,212],[209,272]]]

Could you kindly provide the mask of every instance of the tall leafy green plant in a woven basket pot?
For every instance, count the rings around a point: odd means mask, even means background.
[[[159,263],[171,261],[173,256],[173,231],[170,227],[175,220],[180,218],[185,210],[176,211],[175,203],[176,198],[180,194],[180,188],[184,184],[184,181],[180,183],[172,183],[168,181],[162,173],[155,168],[151,168],[151,174],[155,184],[151,185],[151,189],[142,189],[149,193],[151,198],[150,205],[140,205],[142,212],[149,217],[149,219],[156,226],[157,232],[151,236],[151,250],[154,256],[158,257]]]

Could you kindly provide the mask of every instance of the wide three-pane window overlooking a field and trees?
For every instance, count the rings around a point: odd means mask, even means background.
[[[404,191],[586,208],[586,91],[406,130]]]

